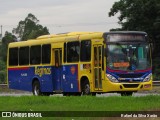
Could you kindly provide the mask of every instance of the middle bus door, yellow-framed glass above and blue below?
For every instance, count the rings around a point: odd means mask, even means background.
[[[62,91],[62,49],[54,49],[53,86],[55,91]]]

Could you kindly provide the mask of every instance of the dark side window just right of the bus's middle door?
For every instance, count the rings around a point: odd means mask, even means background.
[[[67,62],[78,62],[80,54],[79,42],[67,43]]]

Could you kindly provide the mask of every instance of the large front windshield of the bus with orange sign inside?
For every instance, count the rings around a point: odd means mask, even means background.
[[[114,44],[107,47],[107,67],[113,70],[144,70],[151,67],[148,44]]]

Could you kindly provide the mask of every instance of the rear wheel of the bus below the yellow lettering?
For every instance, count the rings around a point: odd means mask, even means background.
[[[32,86],[32,92],[33,92],[33,95],[35,96],[42,95],[39,81],[34,81],[33,86]]]

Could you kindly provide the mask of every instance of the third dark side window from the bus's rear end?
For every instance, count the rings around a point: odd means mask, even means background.
[[[31,46],[30,49],[30,64],[36,65],[41,63],[41,46]]]

